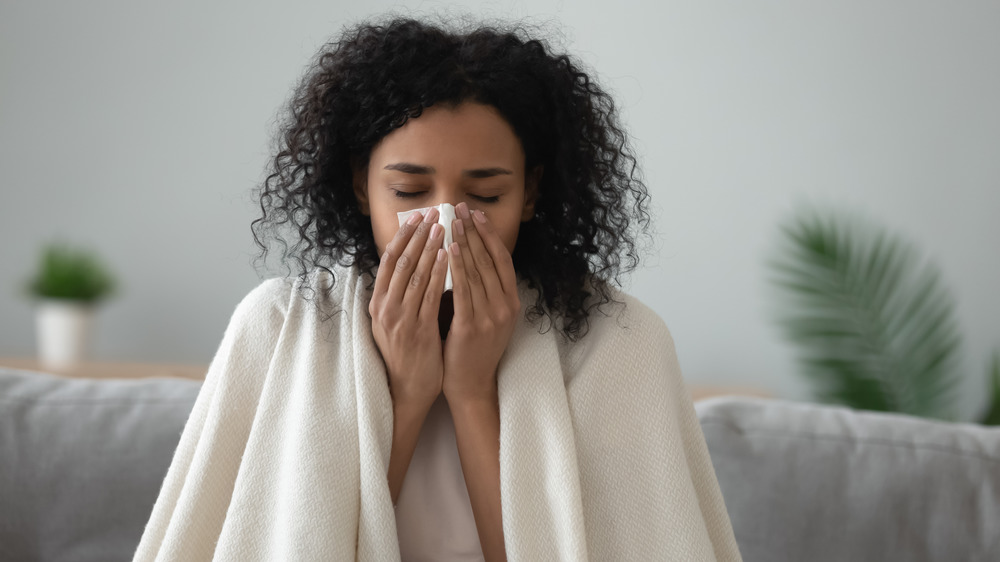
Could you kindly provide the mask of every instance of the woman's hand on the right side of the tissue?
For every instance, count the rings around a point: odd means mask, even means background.
[[[497,399],[497,365],[521,311],[514,261],[482,211],[455,210],[451,256],[455,315],[444,343],[450,404]]]

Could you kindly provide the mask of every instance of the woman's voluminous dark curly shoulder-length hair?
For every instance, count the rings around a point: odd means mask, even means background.
[[[590,312],[614,301],[610,284],[638,265],[649,195],[611,96],[580,63],[522,28],[460,32],[394,18],[324,45],[279,124],[278,152],[259,188],[262,215],[251,225],[257,259],[266,259],[270,233],[303,280],[316,268],[332,276],[333,264],[374,276],[378,250],[353,171],[408,119],[462,102],[496,108],[521,141],[525,169],[543,167],[514,268],[538,294],[529,318],[548,316],[575,341]]]

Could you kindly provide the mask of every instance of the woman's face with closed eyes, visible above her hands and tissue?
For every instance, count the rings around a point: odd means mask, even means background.
[[[399,230],[396,213],[441,203],[486,214],[507,250],[531,219],[540,169],[526,177],[514,130],[492,106],[432,106],[372,149],[355,194],[372,219],[379,255]]]

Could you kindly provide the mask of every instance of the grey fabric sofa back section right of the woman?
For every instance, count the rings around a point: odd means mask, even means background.
[[[1000,429],[696,403],[745,562],[1000,560]]]

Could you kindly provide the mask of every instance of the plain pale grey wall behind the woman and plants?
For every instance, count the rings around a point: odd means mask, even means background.
[[[547,25],[618,96],[659,232],[630,290],[690,380],[807,396],[768,320],[764,260],[793,203],[817,201],[942,266],[971,418],[1000,346],[1000,3],[826,4],[0,4],[0,356],[33,353],[16,291],[61,235],[124,284],[100,357],[207,363],[258,282],[250,190],[309,57],[359,17],[443,6]]]

